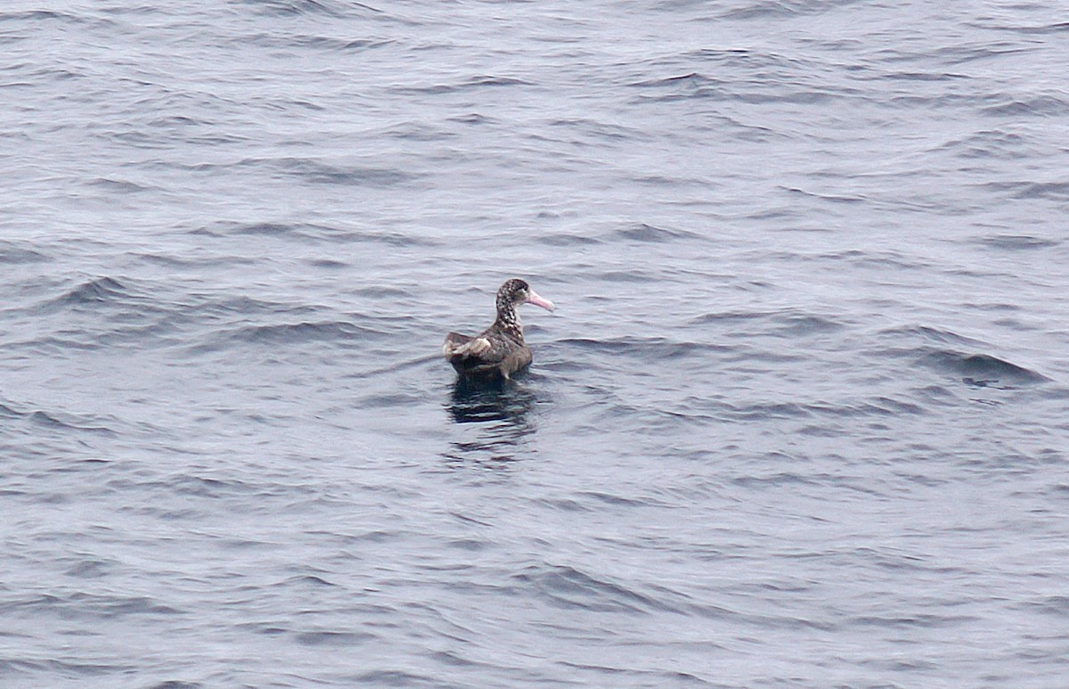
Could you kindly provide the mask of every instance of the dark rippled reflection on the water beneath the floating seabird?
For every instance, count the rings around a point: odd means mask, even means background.
[[[524,439],[537,430],[529,418],[539,396],[515,380],[472,383],[464,379],[453,385],[446,404],[450,417],[458,425],[476,431],[474,439],[451,443],[451,451],[444,453],[450,463],[470,461],[500,465],[515,460],[515,453]]]

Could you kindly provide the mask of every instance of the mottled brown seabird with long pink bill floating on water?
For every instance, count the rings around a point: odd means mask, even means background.
[[[449,333],[441,355],[453,365],[462,379],[509,380],[531,363],[531,351],[524,343],[524,326],[516,308],[533,304],[547,311],[556,308],[520,279],[506,280],[497,290],[497,319],[475,337]]]

